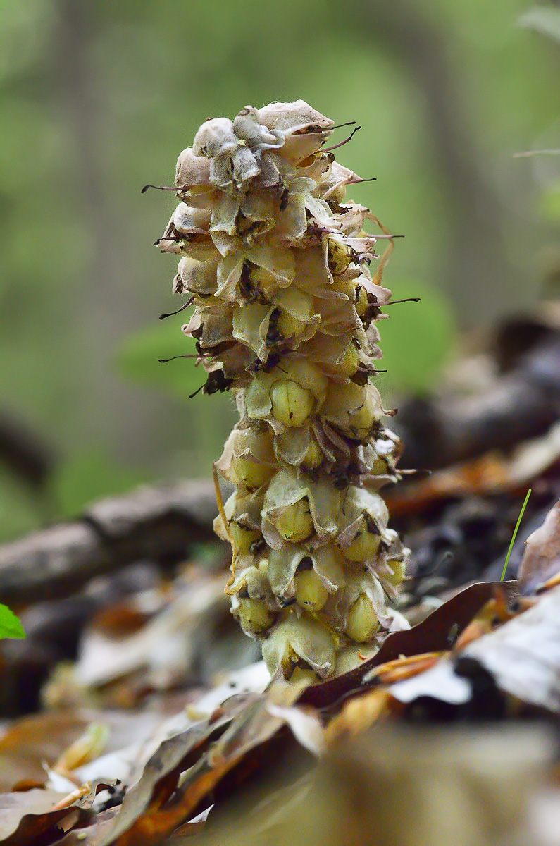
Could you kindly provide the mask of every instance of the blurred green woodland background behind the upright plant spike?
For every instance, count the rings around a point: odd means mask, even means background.
[[[560,33],[524,0],[0,2],[0,541],[142,481],[208,477],[236,419],[185,351],[151,245],[208,117],[303,98],[361,131],[338,160],[405,238],[387,403],[557,294]],[[556,23],[555,23],[556,21]],[[555,37],[556,36],[556,37]],[[338,140],[338,139],[337,139]]]

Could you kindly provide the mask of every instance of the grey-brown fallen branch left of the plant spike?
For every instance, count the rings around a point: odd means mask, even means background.
[[[68,596],[93,576],[150,560],[173,566],[209,541],[217,514],[211,481],[145,486],[102,499],[80,519],[0,547],[0,602],[21,607]]]

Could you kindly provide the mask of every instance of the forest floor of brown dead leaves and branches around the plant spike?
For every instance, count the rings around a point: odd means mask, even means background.
[[[399,409],[410,628],[307,688],[228,612],[211,482],[0,547],[27,633],[0,645],[0,844],[560,844],[559,409],[552,306]]]

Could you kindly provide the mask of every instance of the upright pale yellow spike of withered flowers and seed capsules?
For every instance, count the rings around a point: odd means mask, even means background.
[[[233,482],[215,529],[233,548],[228,594],[271,673],[326,678],[375,650],[407,550],[379,494],[398,438],[370,382],[391,292],[371,277],[369,209],[324,149],[307,103],[207,120],[178,157],[180,203],[158,244],[195,305],[206,393],[229,390],[239,423],[217,469]]]

